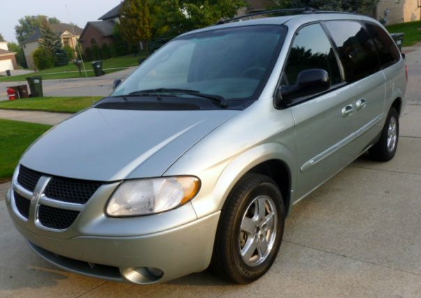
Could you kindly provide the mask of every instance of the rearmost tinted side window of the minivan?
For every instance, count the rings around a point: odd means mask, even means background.
[[[387,68],[388,66],[397,63],[401,54],[389,34],[386,33],[381,26],[376,24],[366,23],[365,27],[369,31],[374,40],[374,44],[376,45],[381,68]]]

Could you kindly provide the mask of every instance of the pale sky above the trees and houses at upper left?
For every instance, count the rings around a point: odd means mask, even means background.
[[[86,22],[118,5],[121,0],[0,0],[0,33],[8,42],[16,42],[15,26],[25,15],[47,15],[63,23],[84,28]],[[67,6],[67,9],[66,9]]]

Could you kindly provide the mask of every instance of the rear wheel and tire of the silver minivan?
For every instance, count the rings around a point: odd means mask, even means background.
[[[380,139],[369,150],[372,159],[388,162],[395,156],[399,139],[399,114],[394,107],[390,108]]]

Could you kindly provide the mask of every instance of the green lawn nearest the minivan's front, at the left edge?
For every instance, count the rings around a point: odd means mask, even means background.
[[[12,177],[26,148],[50,127],[0,119],[0,181]]]

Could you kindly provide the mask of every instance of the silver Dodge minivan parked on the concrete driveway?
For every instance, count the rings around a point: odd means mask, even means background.
[[[293,205],[365,152],[392,159],[407,77],[383,26],[263,16],[178,36],[33,143],[6,195],[33,251],[113,281],[250,283]]]

